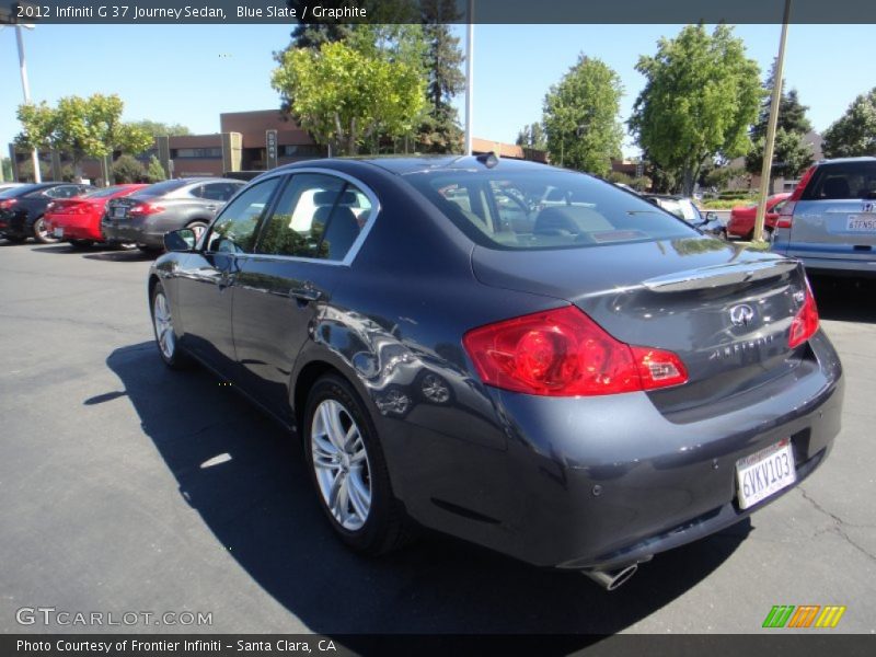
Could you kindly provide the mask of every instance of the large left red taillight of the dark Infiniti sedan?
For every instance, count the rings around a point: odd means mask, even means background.
[[[614,394],[688,380],[676,354],[622,343],[574,306],[481,326],[462,343],[484,383],[527,394]]]

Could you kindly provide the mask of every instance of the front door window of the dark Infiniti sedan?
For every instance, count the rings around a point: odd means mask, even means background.
[[[256,230],[270,203],[280,177],[256,183],[227,205],[210,228],[205,251],[214,253],[253,253]]]

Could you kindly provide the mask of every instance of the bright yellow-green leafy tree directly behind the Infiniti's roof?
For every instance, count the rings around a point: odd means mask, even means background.
[[[326,43],[319,51],[287,50],[272,84],[318,143],[353,155],[377,135],[395,137],[413,129],[425,104],[419,61]]]

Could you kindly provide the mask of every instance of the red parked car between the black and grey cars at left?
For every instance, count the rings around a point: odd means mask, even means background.
[[[106,201],[119,196],[128,196],[149,185],[113,185],[77,198],[54,200],[46,208],[44,217],[49,234],[74,249],[85,249],[94,242],[103,241],[101,217]]]

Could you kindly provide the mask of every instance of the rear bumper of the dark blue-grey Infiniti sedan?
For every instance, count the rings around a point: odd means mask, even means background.
[[[423,525],[539,566],[646,561],[789,489],[740,509],[739,459],[789,438],[797,482],[825,461],[840,430],[842,369],[823,333],[807,348],[789,373],[683,415],[660,413],[646,393],[562,399],[493,390],[504,448],[459,439],[464,428],[457,438],[390,431],[396,494]]]

